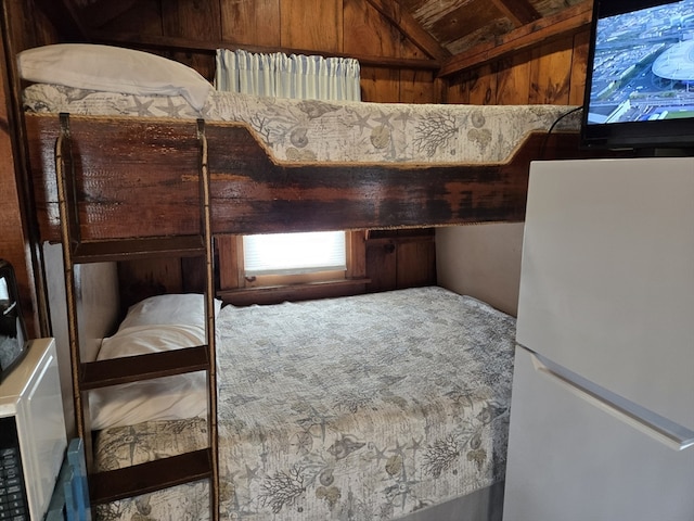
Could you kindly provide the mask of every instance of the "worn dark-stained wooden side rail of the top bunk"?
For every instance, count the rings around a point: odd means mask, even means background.
[[[41,239],[57,241],[57,115],[26,114]],[[195,233],[194,120],[70,116],[82,239]],[[580,157],[576,134],[532,134],[491,165],[278,164],[244,124],[207,123],[213,232],[522,221],[529,162]],[[176,187],[176,189],[172,189]]]

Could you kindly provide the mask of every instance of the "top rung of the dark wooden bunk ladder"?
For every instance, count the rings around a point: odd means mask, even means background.
[[[204,254],[205,240],[202,236],[82,241],[73,246],[73,262],[75,263],[128,260],[162,255],[193,256]]]

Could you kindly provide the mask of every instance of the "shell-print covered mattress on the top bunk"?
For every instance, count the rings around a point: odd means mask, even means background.
[[[201,111],[182,97],[132,96],[34,84],[34,113],[242,122],[279,162],[494,164],[510,161],[534,131],[577,132],[565,105],[325,102],[213,91]],[[563,118],[570,113],[570,116]]]

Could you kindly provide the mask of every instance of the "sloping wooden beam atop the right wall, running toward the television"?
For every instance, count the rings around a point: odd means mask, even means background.
[[[484,65],[494,60],[528,49],[562,36],[577,33],[590,25],[592,20],[592,0],[568,8],[558,14],[540,18],[526,24],[511,33],[502,35],[496,41],[481,43],[465,52],[450,58],[438,74],[438,77],[451,76],[465,69]]]

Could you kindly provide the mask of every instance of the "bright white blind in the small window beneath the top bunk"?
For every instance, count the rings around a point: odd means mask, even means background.
[[[245,277],[347,269],[344,231],[245,236],[243,255]]]

